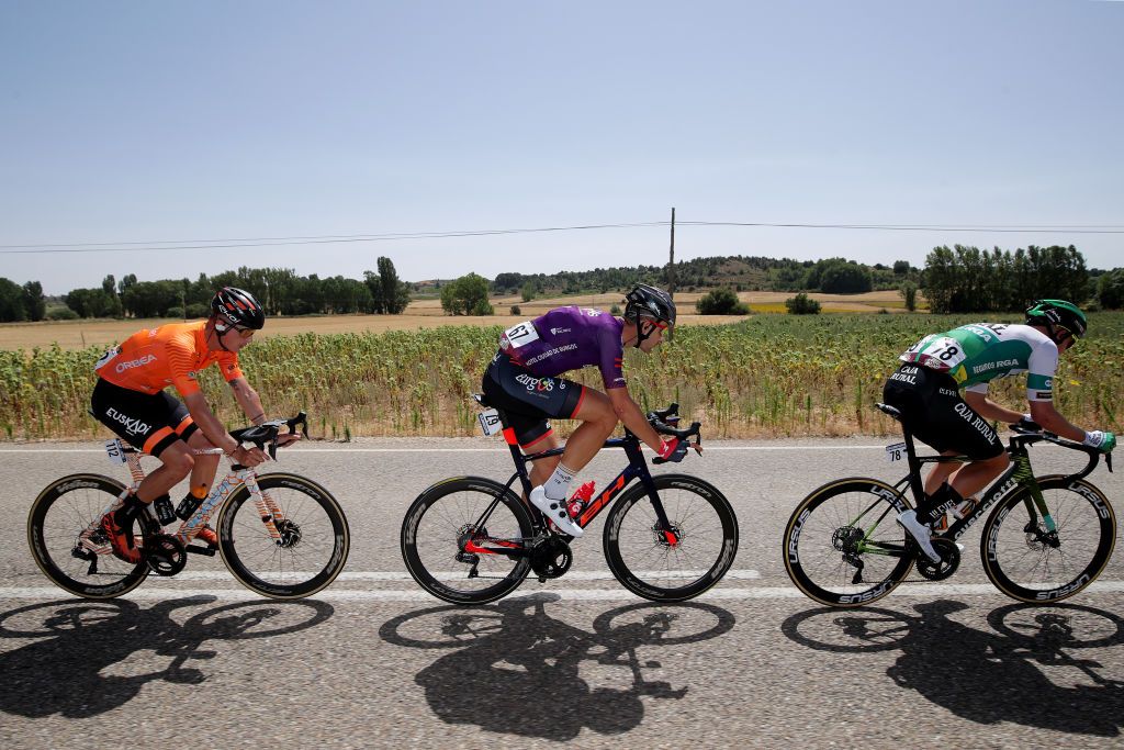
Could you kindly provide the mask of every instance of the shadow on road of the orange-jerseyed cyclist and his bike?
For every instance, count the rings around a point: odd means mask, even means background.
[[[0,653],[0,711],[31,719],[60,714],[96,716],[133,699],[155,680],[196,685],[207,675],[191,660],[214,659],[206,641],[232,641],[291,633],[324,622],[323,602],[239,602],[206,609],[182,624],[172,613],[215,602],[214,596],[161,602],[142,608],[128,600],[34,604],[0,613],[0,639],[37,639]],[[171,658],[162,669],[152,654]],[[134,665],[127,663],[134,660]],[[115,672],[126,672],[125,675]],[[138,671],[139,674],[133,674]]]

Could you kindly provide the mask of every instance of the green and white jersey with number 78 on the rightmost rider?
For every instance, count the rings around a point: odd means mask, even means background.
[[[1026,398],[1053,399],[1058,345],[1028,325],[973,323],[925,336],[898,358],[928,370],[948,372],[966,390],[986,394],[987,383],[1027,372]]]

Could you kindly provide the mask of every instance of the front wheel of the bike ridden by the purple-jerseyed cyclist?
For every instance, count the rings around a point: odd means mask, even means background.
[[[613,576],[636,596],[685,602],[717,584],[734,564],[737,516],[714,485],[697,477],[656,475],[652,480],[669,523],[679,532],[678,541],[668,543],[656,531],[655,509],[640,504],[649,499],[647,490],[634,485],[613,504],[605,521],[605,559]],[[637,515],[640,508],[647,513]],[[677,580],[688,582],[667,585]]]

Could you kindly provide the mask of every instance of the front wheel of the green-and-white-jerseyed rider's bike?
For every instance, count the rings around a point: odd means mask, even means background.
[[[1081,591],[1105,569],[1116,543],[1116,514],[1108,498],[1085,480],[1050,476],[1037,482],[1058,525],[1060,545],[1043,544],[1025,532],[1028,518],[1017,510],[1030,497],[1024,487],[988,516],[980,559],[984,573],[1007,596],[1049,604]]]

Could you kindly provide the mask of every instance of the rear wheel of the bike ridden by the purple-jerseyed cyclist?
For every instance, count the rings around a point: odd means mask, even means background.
[[[456,560],[460,552],[459,537],[472,531],[471,526],[495,500],[498,504],[487,522],[483,535],[491,539],[534,537],[531,514],[523,500],[491,479],[454,477],[437,482],[414,499],[402,519],[400,541],[406,570],[418,586],[451,604],[487,604],[518,588],[531,570],[528,558],[479,554],[478,568],[487,566],[490,570],[475,578],[469,578],[468,563]],[[435,506],[439,509],[435,509]],[[501,509],[506,513],[497,518],[496,514]],[[434,521],[436,527],[432,531],[423,526],[427,519]],[[499,521],[498,525],[496,521]],[[479,530],[473,533],[479,533]],[[446,569],[443,570],[441,566]],[[498,582],[475,588],[461,585],[489,580]]]

